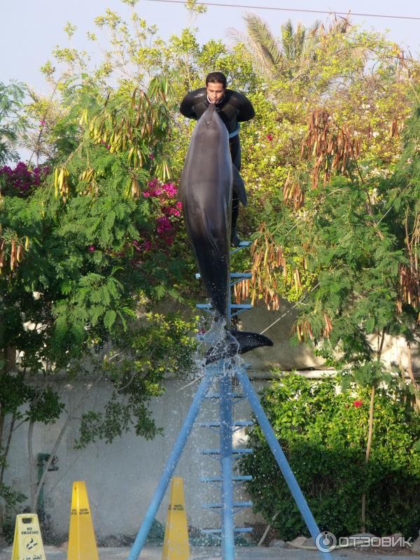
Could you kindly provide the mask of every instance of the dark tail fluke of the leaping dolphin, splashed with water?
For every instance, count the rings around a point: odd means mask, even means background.
[[[211,347],[206,354],[206,365],[209,363],[232,358],[237,354],[244,354],[260,346],[273,346],[272,340],[256,332],[244,332],[243,330],[225,331],[226,336]]]

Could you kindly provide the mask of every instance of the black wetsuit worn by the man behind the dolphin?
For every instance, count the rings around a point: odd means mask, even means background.
[[[207,89],[200,87],[198,90],[188,92],[183,98],[179,110],[183,116],[198,120],[204,111],[206,111],[210,102],[207,99]],[[239,123],[251,120],[255,116],[252,103],[247,97],[234,90],[225,90],[225,97],[216,103],[216,109],[219,116],[225,123],[229,134],[239,129]],[[235,134],[229,139],[230,155],[232,163],[241,170],[241,143],[239,134]],[[232,228],[236,228],[237,218],[239,214],[239,199],[235,190],[232,194]]]

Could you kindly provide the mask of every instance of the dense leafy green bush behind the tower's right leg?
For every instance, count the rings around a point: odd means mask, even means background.
[[[262,393],[262,406],[279,439],[320,530],[335,535],[360,531],[360,503],[367,493],[367,530],[415,537],[420,526],[420,415],[395,381],[374,400],[374,429],[365,464],[368,389],[337,392],[337,380],[309,381],[288,374]],[[308,534],[258,425],[249,431],[254,454],[241,470],[255,512],[280,538]]]

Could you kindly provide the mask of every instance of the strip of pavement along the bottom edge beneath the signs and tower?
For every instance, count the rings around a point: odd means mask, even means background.
[[[45,546],[46,560],[66,560],[65,548]],[[100,548],[99,560],[127,560],[130,553],[128,547]],[[12,547],[0,549],[0,560],[10,560]],[[384,552],[375,549],[339,549],[330,555],[331,559],[346,560],[393,560],[403,558],[405,560],[420,560],[420,554],[413,554],[409,549]],[[321,560],[321,554],[314,550],[302,550],[292,548],[276,547],[237,547],[237,560]],[[327,556],[324,556],[325,560]],[[162,547],[144,547],[139,560],[161,560]],[[221,549],[218,547],[191,547],[190,560],[221,560]]]

